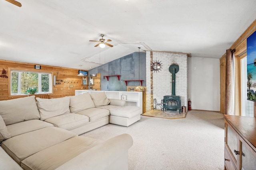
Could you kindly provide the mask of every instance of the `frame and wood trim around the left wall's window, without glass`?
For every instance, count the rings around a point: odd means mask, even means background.
[[[11,86],[12,86],[12,81],[11,81],[11,72],[12,71],[17,71],[17,72],[33,72],[33,73],[38,73],[38,74],[50,74],[50,78],[49,78],[49,92],[40,92],[40,93],[36,93],[36,94],[12,94],[12,90],[11,90]],[[22,97],[22,96],[31,96],[31,95],[37,95],[37,94],[52,94],[53,93],[53,72],[52,71],[46,71],[46,70],[38,70],[38,69],[28,69],[28,68],[12,68],[9,67],[8,68],[8,97]],[[39,81],[39,80],[38,80]],[[39,83],[39,82],[38,82]],[[41,87],[40,84],[38,84],[38,88]]]

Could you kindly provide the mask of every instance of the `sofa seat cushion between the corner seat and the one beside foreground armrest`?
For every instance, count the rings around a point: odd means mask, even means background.
[[[75,136],[76,133],[65,129],[45,127],[11,137],[3,141],[1,146],[20,165],[28,156]]]

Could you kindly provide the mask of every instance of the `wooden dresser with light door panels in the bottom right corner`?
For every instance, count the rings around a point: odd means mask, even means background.
[[[224,118],[225,170],[256,170],[256,117]]]

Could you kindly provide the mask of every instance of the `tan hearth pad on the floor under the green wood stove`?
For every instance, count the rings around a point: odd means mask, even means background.
[[[182,112],[179,113],[179,111],[170,111],[170,110],[161,111],[160,109],[156,109],[156,110],[147,111],[142,115],[164,118],[164,119],[180,119],[180,118],[185,118],[186,114],[187,113],[182,113]]]

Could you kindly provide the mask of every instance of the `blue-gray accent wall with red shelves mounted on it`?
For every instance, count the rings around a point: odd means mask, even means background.
[[[135,52],[88,70],[88,72],[88,75],[100,73],[100,89],[105,91],[126,91],[126,84],[123,80],[144,80],[142,86],[146,86],[146,53]],[[104,77],[109,75],[121,75],[120,81],[117,76],[109,77],[108,80]],[[140,85],[139,81],[127,82],[127,86],[138,85]]]

